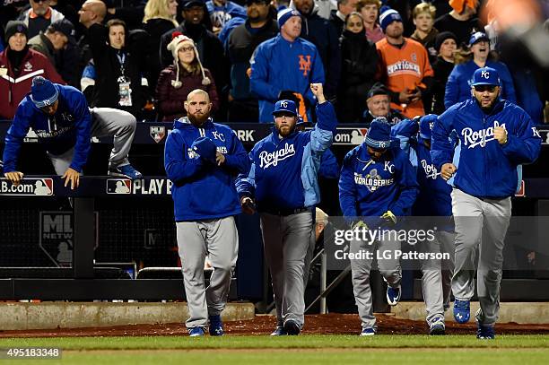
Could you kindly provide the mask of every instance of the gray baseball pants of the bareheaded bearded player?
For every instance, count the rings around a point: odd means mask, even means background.
[[[239,235],[234,217],[197,222],[177,222],[183,283],[187,294],[188,329],[208,325],[208,316],[225,308],[231,276],[239,252]],[[204,284],[204,260],[208,256],[213,273]]]

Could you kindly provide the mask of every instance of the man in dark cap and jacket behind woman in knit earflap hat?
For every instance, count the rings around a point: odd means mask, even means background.
[[[193,39],[196,49],[198,49],[198,56],[205,68],[212,73],[217,87],[217,95],[223,101],[228,89],[231,66],[225,58],[222,42],[205,27],[204,21],[205,18],[208,18],[205,4],[200,0],[187,0],[183,4],[183,17],[184,21],[174,31],[179,31]],[[164,33],[161,38],[161,65],[164,68],[173,63],[173,56],[167,48],[171,41],[171,33],[170,30]],[[223,118],[219,116],[217,119],[222,120]]]

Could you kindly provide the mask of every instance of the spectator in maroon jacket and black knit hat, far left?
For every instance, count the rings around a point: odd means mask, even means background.
[[[12,119],[19,102],[30,91],[35,75],[65,83],[56,68],[41,53],[29,49],[27,26],[11,21],[5,27],[6,48],[0,53],[0,119]]]

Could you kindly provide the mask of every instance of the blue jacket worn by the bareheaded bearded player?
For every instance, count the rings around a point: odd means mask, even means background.
[[[198,137],[209,137],[225,162],[204,161],[191,148]],[[171,197],[176,222],[224,218],[241,212],[234,179],[249,169],[248,153],[229,126],[211,119],[197,128],[182,117],[166,139],[164,168],[173,182]]]

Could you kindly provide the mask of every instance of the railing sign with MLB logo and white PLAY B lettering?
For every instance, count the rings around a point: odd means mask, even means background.
[[[173,183],[167,178],[108,178],[107,194],[138,195],[138,196],[165,196],[171,195]]]

